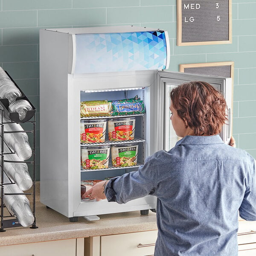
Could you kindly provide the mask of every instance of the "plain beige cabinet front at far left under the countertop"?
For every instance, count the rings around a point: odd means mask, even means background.
[[[76,256],[76,239],[0,246],[4,256]]]

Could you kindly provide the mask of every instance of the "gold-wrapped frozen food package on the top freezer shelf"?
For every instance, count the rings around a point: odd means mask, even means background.
[[[110,116],[111,102],[107,100],[91,100],[80,102],[80,116]]]

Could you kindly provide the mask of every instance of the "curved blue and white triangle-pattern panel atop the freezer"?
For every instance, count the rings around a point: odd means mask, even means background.
[[[76,35],[75,73],[166,67],[164,31]]]

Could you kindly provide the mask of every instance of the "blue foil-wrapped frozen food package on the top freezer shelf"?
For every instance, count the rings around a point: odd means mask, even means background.
[[[132,115],[145,113],[144,102],[135,96],[132,99],[114,100],[112,103],[111,116]]]

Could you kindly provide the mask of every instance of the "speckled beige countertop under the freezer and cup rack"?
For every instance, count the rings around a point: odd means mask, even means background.
[[[157,230],[156,214],[151,211],[148,215],[140,215],[140,211],[99,215],[99,221],[79,217],[78,222],[70,222],[66,216],[41,204],[39,183],[36,184],[36,191],[38,228],[6,228],[6,232],[0,233],[0,246]]]

